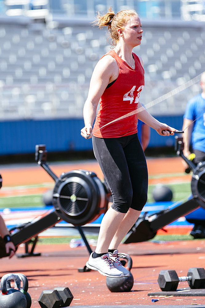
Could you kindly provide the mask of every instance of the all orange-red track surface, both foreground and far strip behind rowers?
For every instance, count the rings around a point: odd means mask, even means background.
[[[59,176],[61,172],[73,169],[94,171],[102,178],[97,163],[76,163],[51,165]],[[151,178],[150,184],[168,183],[170,180],[179,182],[191,180],[190,175],[181,178],[174,173],[184,172],[181,158],[160,158],[148,160],[149,176],[164,174],[160,179]],[[173,173],[173,177],[167,174]],[[1,170],[3,186],[21,186],[53,182],[50,176],[40,167],[3,168]],[[41,192],[42,193],[42,192]],[[95,247],[91,248],[95,249]],[[191,305],[204,304],[205,297],[172,297],[160,298],[160,302],[152,303],[148,293],[158,291],[157,278],[162,269],[176,270],[180,276],[187,275],[190,267],[204,267],[205,241],[175,241],[165,243],[143,242],[121,244],[120,252],[128,253],[133,260],[132,275],[134,285],[127,293],[111,293],[106,286],[106,277],[97,271],[80,273],[79,267],[84,267],[88,260],[85,247],[70,248],[69,244],[37,245],[36,252],[40,257],[1,259],[1,277],[7,273],[23,273],[29,280],[29,293],[32,298],[32,308],[40,307],[37,300],[43,290],[55,287],[69,287],[74,299],[71,306],[81,305]],[[19,247],[18,253],[24,253]],[[181,282],[179,287],[187,287],[187,282]],[[180,300],[179,300],[180,299]],[[9,307],[8,307],[9,308]]]

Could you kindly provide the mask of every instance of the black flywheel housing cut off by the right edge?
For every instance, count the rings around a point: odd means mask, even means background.
[[[191,179],[191,191],[199,204],[205,208],[205,162],[197,164]]]

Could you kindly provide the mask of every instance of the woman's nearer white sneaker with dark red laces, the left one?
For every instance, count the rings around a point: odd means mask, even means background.
[[[97,270],[100,274],[107,277],[118,278],[124,276],[122,271],[116,269],[109,253],[98,258],[93,258],[93,253],[91,253],[86,266],[91,270]]]

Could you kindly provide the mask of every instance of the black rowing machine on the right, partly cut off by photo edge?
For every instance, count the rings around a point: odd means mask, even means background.
[[[170,224],[181,216],[187,215],[198,209],[205,208],[205,162],[197,166],[183,155],[183,138],[175,136],[175,150],[177,156],[181,156],[193,172],[191,179],[192,196],[185,202],[149,215],[144,213],[127,233],[124,244],[148,241],[155,237],[157,230]]]

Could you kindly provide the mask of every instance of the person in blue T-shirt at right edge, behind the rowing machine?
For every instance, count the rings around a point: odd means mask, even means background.
[[[200,87],[202,93],[188,101],[183,116],[183,154],[186,157],[191,154],[191,144],[192,152],[195,154],[193,160],[195,164],[205,161],[205,72],[201,75]],[[187,168],[187,164],[184,161],[183,163]],[[197,209],[188,214],[186,219],[195,224],[190,234],[194,238],[205,238],[205,209]]]

